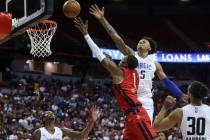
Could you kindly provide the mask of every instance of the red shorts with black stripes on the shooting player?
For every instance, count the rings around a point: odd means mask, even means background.
[[[153,140],[157,137],[150,118],[143,107],[130,112],[125,119],[123,140]]]

